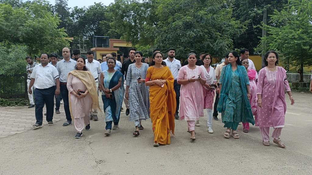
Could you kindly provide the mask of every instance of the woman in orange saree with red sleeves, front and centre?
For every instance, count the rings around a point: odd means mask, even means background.
[[[170,144],[170,133],[174,135],[176,109],[173,76],[163,62],[163,54],[155,52],[146,72],[145,85],[149,86],[150,117],[153,122],[154,146]]]

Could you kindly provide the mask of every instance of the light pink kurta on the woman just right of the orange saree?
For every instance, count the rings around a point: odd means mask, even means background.
[[[178,73],[178,81],[189,79],[195,76],[206,79],[205,72],[201,67],[196,66],[195,69],[189,69],[188,66],[183,66]],[[180,119],[186,121],[199,120],[199,117],[204,116],[204,95],[202,93],[202,84],[200,82],[188,83],[181,85],[180,89]]]

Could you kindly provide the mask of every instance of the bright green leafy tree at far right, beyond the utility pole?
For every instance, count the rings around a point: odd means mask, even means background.
[[[274,11],[271,25],[264,25],[268,33],[262,37],[266,50],[276,50],[281,54],[284,64],[300,68],[312,66],[312,1],[289,0],[282,11]],[[288,65],[289,66],[289,65]],[[286,65],[286,68],[288,67]]]

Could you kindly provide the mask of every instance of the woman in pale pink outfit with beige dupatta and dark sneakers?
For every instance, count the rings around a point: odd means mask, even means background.
[[[92,73],[85,67],[85,59],[77,59],[76,69],[68,73],[67,89],[69,95],[69,109],[71,118],[74,118],[77,134],[76,139],[82,135],[82,130],[90,130],[90,109],[100,109],[99,97]]]

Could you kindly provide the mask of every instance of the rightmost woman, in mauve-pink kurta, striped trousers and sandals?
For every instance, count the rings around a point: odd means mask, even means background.
[[[295,103],[295,100],[291,95],[286,70],[276,66],[278,64],[277,52],[268,51],[265,58],[266,67],[260,70],[257,84],[258,123],[262,135],[262,144],[270,146],[269,129],[273,127],[273,142],[279,147],[285,148],[285,144],[279,138],[285,125],[286,101],[284,86],[291,105]]]

